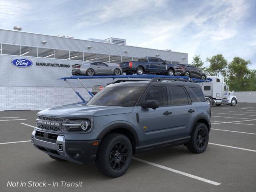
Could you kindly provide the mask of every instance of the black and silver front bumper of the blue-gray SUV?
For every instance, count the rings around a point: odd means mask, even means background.
[[[58,135],[53,141],[36,136],[36,130],[32,132],[31,141],[35,148],[48,155],[78,164],[93,162],[100,144],[100,140],[66,140],[63,135]]]

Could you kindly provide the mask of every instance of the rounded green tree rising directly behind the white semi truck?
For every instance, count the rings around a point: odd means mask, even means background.
[[[207,74],[220,76],[226,76],[226,67],[228,66],[228,61],[224,58],[222,54],[217,54],[211,58],[206,59],[210,62],[210,66],[207,68]]]

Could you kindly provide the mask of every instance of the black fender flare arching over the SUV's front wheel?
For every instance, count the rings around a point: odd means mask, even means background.
[[[108,132],[110,132],[111,130],[114,130],[116,128],[123,128],[123,129],[130,131],[134,137],[135,146],[139,145],[140,140],[139,140],[139,136],[138,136],[138,133],[136,132],[136,130],[131,125],[129,125],[127,123],[120,123],[120,122],[112,124],[112,125],[104,128],[104,130],[102,132],[100,132],[100,134],[98,135],[97,140],[102,139]]]

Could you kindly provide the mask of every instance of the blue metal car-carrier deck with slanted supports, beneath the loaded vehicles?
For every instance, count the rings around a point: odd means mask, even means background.
[[[107,79],[107,78],[112,78],[113,80],[115,80],[116,78],[120,79],[120,78],[141,78],[141,79],[152,79],[152,78],[159,78],[161,80],[192,80],[193,82],[196,83],[200,83],[200,82],[204,82],[204,80],[202,79],[197,79],[197,78],[190,78],[190,77],[185,77],[185,76],[168,76],[168,75],[119,75],[119,76],[115,76],[115,75],[98,75],[98,76],[70,76],[70,77],[62,77],[59,78],[60,80],[64,80],[67,82],[67,84],[74,90],[74,92],[78,95],[78,97],[83,101],[86,102],[86,100],[84,100],[84,98],[80,95],[80,93],[68,82],[68,80],[70,79],[76,79],[78,80],[78,82],[80,82],[80,84],[86,89],[86,91],[88,92],[88,94],[90,94],[90,96],[94,96],[92,94],[92,92],[84,85],[84,83],[80,80],[80,79]]]

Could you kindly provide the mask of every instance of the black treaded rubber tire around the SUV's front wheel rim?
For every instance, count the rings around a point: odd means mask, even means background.
[[[115,170],[112,168],[110,164],[111,152],[113,152],[113,148],[116,143],[122,142],[125,144],[127,149],[126,162],[119,170]],[[109,177],[116,178],[122,176],[129,168],[132,161],[132,144],[128,137],[119,133],[109,133],[100,142],[100,146],[98,148],[96,154],[95,164],[98,170]]]

